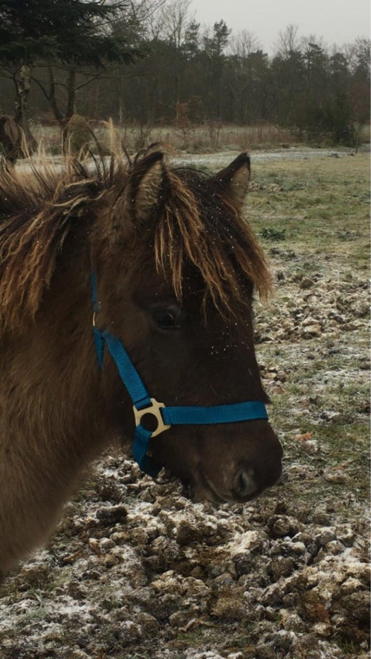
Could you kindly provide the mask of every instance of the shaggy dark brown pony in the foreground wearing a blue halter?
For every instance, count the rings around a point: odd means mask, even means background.
[[[270,278],[242,206],[249,158],[216,176],[170,169],[161,152],[63,171],[0,172],[0,570],[58,520],[82,468],[134,432],[130,398],[95,323],[120,338],[166,405],[267,401],[251,300]],[[280,476],[267,420],[177,426],[153,458],[195,500],[244,502]]]

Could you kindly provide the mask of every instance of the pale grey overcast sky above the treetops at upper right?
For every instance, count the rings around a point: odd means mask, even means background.
[[[329,46],[370,36],[370,0],[192,0],[190,10],[201,25],[223,19],[234,34],[253,32],[269,54],[289,23],[298,36],[322,36]]]

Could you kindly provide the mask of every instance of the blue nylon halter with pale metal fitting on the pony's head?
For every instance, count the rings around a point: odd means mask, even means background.
[[[153,458],[147,455],[148,444],[151,437],[156,437],[171,426],[228,424],[235,421],[251,421],[253,419],[268,419],[265,404],[260,401],[232,403],[212,406],[178,406],[167,407],[155,398],[150,398],[142,378],[128,356],[126,349],[117,336],[106,329],[99,329],[95,325],[95,314],[99,310],[97,298],[97,285],[95,273],[91,275],[91,292],[93,299],[93,336],[95,351],[100,369],[103,367],[104,345],[109,350],[120,378],[133,402],[135,417],[135,437],[133,443],[133,457],[141,470],[150,476],[157,476],[163,465],[158,465]],[[146,430],[142,426],[144,415],[150,414],[157,420],[155,430]]]

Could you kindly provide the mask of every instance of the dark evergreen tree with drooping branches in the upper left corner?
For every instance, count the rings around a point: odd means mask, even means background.
[[[142,54],[126,43],[125,31],[113,34],[111,21],[128,12],[131,3],[85,0],[0,0],[0,64],[16,87],[15,119],[34,148],[26,120],[32,70],[41,62],[67,65],[74,99],[74,72],[81,66],[104,69],[106,62],[129,64]],[[48,100],[56,105],[49,68]],[[54,108],[56,110],[56,107]],[[67,115],[74,102],[67,104]],[[62,119],[63,117],[57,117]],[[69,117],[65,117],[68,119]]]

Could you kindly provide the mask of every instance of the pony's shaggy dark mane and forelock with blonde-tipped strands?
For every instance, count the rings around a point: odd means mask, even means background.
[[[99,222],[90,209],[124,194],[133,173],[115,155],[108,165],[95,161],[93,172],[69,158],[59,170],[42,165],[30,173],[0,172],[0,327],[14,327],[25,314],[36,314],[71,227],[82,216]],[[153,222],[153,248],[157,269],[170,279],[177,297],[182,297],[188,266],[203,279],[204,305],[211,299],[221,312],[233,313],[245,302],[243,280],[265,297],[271,277],[262,250],[213,178],[187,168],[168,170],[168,187]],[[221,211],[209,218],[212,195],[218,195]]]

